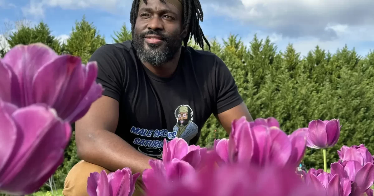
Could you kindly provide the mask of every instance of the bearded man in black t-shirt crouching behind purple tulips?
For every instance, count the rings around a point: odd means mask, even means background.
[[[196,144],[212,113],[228,133],[234,119],[252,120],[223,61],[187,47],[192,36],[209,46],[202,19],[199,0],[134,0],[133,40],[102,46],[90,59],[105,91],[76,122],[84,161],[67,175],[65,196],[87,195],[90,172],[150,168],[149,159],[162,158],[163,139]]]

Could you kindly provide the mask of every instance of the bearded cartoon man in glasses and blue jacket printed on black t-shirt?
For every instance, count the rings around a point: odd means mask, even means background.
[[[183,138],[187,143],[189,143],[199,131],[197,125],[193,123],[192,116],[193,112],[188,105],[180,105],[175,109],[177,124],[173,128],[173,132],[177,132],[176,137]]]

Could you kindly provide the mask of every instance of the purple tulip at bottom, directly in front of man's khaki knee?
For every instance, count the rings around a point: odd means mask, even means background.
[[[92,172],[87,179],[89,196],[131,196],[140,173],[132,175],[130,168],[107,174],[105,170]]]

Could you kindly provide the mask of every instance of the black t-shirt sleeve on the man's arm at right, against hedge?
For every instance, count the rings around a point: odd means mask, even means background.
[[[215,63],[215,99],[216,99],[216,112],[225,112],[243,102],[234,77],[232,76],[229,68],[219,58],[216,57]]]

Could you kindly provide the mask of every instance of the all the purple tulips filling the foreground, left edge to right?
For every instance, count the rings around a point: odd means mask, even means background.
[[[0,59],[0,192],[33,193],[64,158],[70,124],[102,93],[95,62],[56,55],[43,44],[18,45]],[[374,156],[342,146],[330,168],[326,148],[340,136],[338,119],[314,120],[287,135],[275,118],[232,122],[229,139],[205,148],[164,140],[162,160],[142,173],[146,196],[373,196]],[[307,147],[322,149],[324,169],[296,168]],[[330,169],[329,172],[328,169]],[[88,177],[90,196],[131,196],[140,173],[123,168]]]

